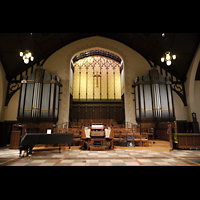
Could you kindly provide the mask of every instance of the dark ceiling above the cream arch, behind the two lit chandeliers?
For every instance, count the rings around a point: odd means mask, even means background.
[[[165,33],[165,37],[161,33],[0,33],[0,61],[7,80],[48,58],[61,47],[91,36],[122,42],[183,82],[200,42],[200,33]],[[24,64],[19,52],[31,47],[35,59]],[[170,67],[160,61],[166,51],[177,55]]]

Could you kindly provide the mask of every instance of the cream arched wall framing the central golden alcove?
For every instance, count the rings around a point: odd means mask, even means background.
[[[59,109],[59,123],[67,122],[69,119],[70,102],[70,69],[72,57],[84,50],[94,49],[108,50],[123,59],[124,67],[124,90],[125,90],[125,120],[136,123],[134,92],[132,84],[137,76],[142,76],[150,69],[149,62],[138,52],[125,44],[113,39],[94,36],[74,41],[54,52],[44,63],[43,67],[49,74],[55,74],[61,79],[61,101]]]

